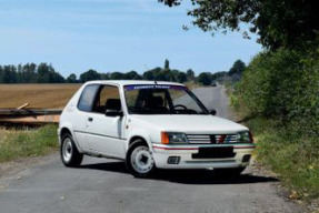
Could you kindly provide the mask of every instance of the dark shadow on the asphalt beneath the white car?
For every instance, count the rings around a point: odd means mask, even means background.
[[[80,168],[131,175],[127,171],[123,162],[84,164]],[[181,184],[252,184],[278,182],[278,179],[275,178],[256,175],[246,172],[237,178],[218,176],[213,173],[213,171],[210,170],[157,170],[152,176],[148,178],[148,180],[168,181]]]

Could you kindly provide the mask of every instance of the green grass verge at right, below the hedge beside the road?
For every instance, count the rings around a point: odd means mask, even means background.
[[[297,199],[319,196],[319,142],[293,126],[270,119],[252,118],[246,124],[255,134],[257,160],[270,165]]]

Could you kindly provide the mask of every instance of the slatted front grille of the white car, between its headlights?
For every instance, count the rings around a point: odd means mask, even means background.
[[[236,134],[187,134],[191,144],[236,143]]]

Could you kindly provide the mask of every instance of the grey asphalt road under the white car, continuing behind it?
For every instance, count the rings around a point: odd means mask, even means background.
[[[220,116],[230,116],[222,87],[195,93]],[[210,171],[161,171],[141,180],[114,160],[84,158],[79,169],[64,168],[58,154],[43,161],[1,180],[1,213],[303,212],[279,194],[276,179],[256,168],[235,180]]]

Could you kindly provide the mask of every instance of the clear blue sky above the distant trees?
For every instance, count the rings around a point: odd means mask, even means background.
[[[162,67],[229,70],[261,50],[239,32],[200,31],[190,4],[168,8],[157,0],[0,0],[0,64],[52,63],[64,77]],[[182,26],[190,27],[183,31]]]

